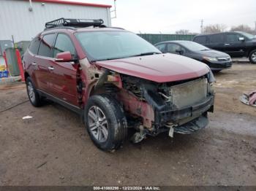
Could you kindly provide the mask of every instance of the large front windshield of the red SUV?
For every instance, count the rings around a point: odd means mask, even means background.
[[[146,40],[128,31],[92,31],[75,34],[91,61],[159,54]]]

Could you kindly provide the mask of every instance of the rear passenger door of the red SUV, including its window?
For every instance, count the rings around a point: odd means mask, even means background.
[[[45,34],[40,36],[38,54],[34,56],[34,69],[36,70],[37,88],[45,93],[50,93],[50,63],[53,61],[53,43],[56,34]]]

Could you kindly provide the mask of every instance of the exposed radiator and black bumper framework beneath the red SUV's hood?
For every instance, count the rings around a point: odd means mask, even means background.
[[[211,75],[211,74],[208,74]],[[177,133],[193,133],[208,122],[204,118],[200,125],[197,118],[213,111],[214,90],[208,75],[182,82],[149,82],[143,79],[122,77],[123,87],[140,101],[148,103],[154,111],[151,133],[161,133],[165,128],[174,128]],[[177,128],[195,120],[195,128]],[[199,125],[196,125],[196,124]],[[144,124],[147,125],[147,124]]]

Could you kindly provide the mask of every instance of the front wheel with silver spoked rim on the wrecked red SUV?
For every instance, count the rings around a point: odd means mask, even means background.
[[[93,95],[84,120],[94,144],[104,151],[118,149],[127,137],[127,119],[118,101],[110,95]]]

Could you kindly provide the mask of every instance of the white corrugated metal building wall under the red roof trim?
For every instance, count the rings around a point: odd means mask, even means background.
[[[15,42],[31,40],[44,28],[45,23],[60,17],[102,18],[106,26],[111,26],[110,9],[105,7],[85,7],[69,4],[33,2],[29,12],[29,1],[0,0],[0,40]]]

